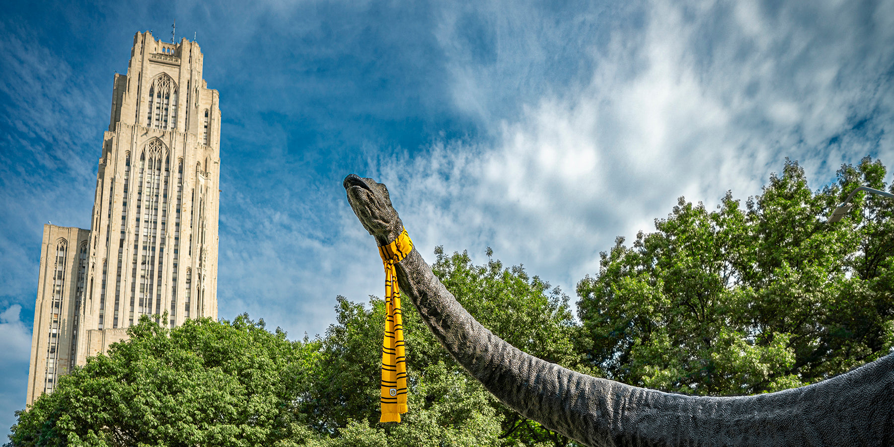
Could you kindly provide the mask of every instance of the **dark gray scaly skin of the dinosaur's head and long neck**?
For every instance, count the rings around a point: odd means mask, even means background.
[[[384,184],[350,174],[350,206],[378,245],[403,231]],[[469,374],[524,417],[590,446],[856,446],[894,443],[894,355],[792,390],[743,397],[670,394],[581,375],[480,325],[416,249],[397,264],[408,296]]]

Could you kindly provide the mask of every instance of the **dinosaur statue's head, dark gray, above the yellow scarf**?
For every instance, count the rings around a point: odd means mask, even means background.
[[[383,183],[352,173],[344,178],[343,184],[354,214],[363,223],[363,228],[375,237],[379,246],[388,245],[401,235],[401,217],[392,207],[388,188]]]

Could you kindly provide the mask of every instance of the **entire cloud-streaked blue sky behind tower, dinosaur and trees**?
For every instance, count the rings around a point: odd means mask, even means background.
[[[0,15],[0,426],[25,401],[42,224],[87,227],[133,35],[220,91],[220,316],[324,333],[381,296],[342,178],[424,257],[485,248],[573,296],[679,196],[894,163],[894,2],[11,2]],[[890,176],[889,179],[890,181]]]

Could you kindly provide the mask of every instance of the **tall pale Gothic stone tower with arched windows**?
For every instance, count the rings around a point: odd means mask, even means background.
[[[196,42],[134,36],[127,74],[114,76],[90,230],[44,225],[28,405],[141,315],[171,327],[217,318],[220,117]]]

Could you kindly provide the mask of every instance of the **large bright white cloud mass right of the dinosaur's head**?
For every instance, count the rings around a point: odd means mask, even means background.
[[[413,223],[420,251],[429,249],[424,256],[444,244],[471,249],[480,261],[491,246],[497,257],[573,294],[584,274],[595,273],[598,251],[617,235],[629,240],[653,230],[653,219],[680,195],[709,206],[726,190],[747,198],[787,156],[805,166],[814,188],[831,181],[839,164],[867,154],[894,163],[894,151],[852,129],[867,119],[881,135],[894,130],[894,56],[886,49],[894,30],[864,27],[862,7],[736,4],[730,13],[722,4],[650,2],[638,35],[619,31],[586,51],[595,55],[588,84],[554,95],[550,80],[540,79],[547,87],[508,120],[493,118],[487,103],[502,95],[493,79],[510,86],[529,80],[504,79],[501,64],[520,65],[499,57],[469,62],[461,54],[468,49],[448,32],[449,17],[439,32],[459,61],[448,64],[456,106],[491,120],[494,142],[447,142],[426,156],[379,158],[372,171],[389,185],[404,222]],[[880,24],[890,21],[882,9],[868,12]],[[549,35],[516,42],[537,43],[514,49],[522,60],[542,57],[539,45],[552,34],[575,41],[568,28],[528,29]],[[847,145],[828,144],[841,135]]]

